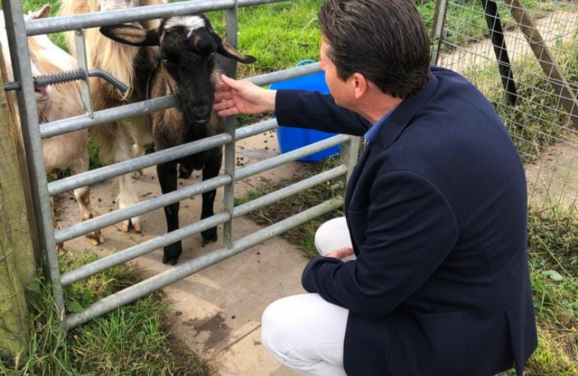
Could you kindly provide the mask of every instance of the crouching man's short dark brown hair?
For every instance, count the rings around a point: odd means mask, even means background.
[[[327,0],[319,22],[343,81],[359,72],[399,98],[428,81],[430,40],[412,0]]]

